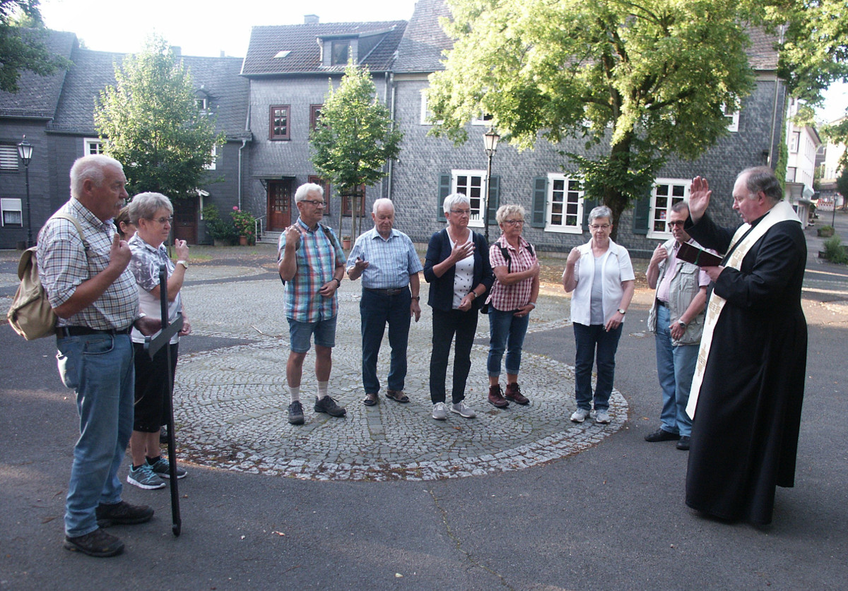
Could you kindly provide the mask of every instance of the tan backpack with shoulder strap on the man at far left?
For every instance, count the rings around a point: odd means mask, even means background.
[[[80,233],[83,244],[85,244],[86,239],[82,234],[82,228],[74,216],[56,213],[53,218],[70,219],[76,226],[76,231]],[[20,334],[26,340],[41,339],[55,334],[56,331],[56,312],[53,312],[53,307],[47,301],[47,292],[38,276],[37,248],[37,246],[28,248],[20,256],[20,262],[18,262],[20,285],[6,315],[14,332]]]

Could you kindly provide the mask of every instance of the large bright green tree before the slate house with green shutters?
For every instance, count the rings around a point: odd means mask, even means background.
[[[522,148],[583,138],[569,153],[616,224],[672,153],[695,158],[727,133],[753,77],[737,0],[448,0],[454,40],[430,76],[432,130],[465,141],[492,116]],[[615,229],[615,228],[614,228]]]

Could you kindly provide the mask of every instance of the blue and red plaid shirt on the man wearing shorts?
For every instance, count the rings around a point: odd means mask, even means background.
[[[321,224],[310,229],[298,218],[294,226],[300,230],[296,251],[298,271],[286,282],[286,318],[308,323],[328,320],[338,312],[338,297],[336,294],[324,297],[318,290],[332,279],[337,264],[344,264],[344,252],[332,228],[325,226],[332,235],[330,240]],[[277,248],[278,258],[282,258],[285,247],[286,233],[283,232]]]

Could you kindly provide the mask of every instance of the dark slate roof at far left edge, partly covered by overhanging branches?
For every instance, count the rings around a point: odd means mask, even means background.
[[[78,42],[73,33],[47,30],[44,45],[49,52],[70,58]],[[64,69],[58,69],[49,76],[22,71],[17,92],[0,91],[0,117],[52,118],[56,113],[64,77]]]

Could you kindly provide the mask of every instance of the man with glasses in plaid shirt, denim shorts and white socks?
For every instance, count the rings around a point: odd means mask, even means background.
[[[286,379],[291,403],[288,422],[304,423],[300,404],[300,378],[304,358],[315,334],[315,378],[318,395],[315,412],[343,417],[345,409],[327,394],[332,369],[332,347],[336,345],[336,291],[344,277],[344,252],[331,228],[321,224],[324,217],[324,190],[321,185],[300,185],[294,194],[300,217],[280,235],[280,277],[286,283],[285,312],[291,352],[286,363]]]

